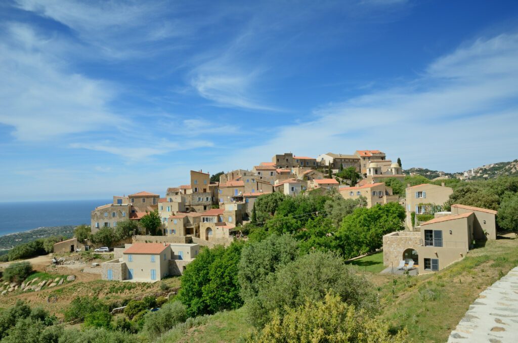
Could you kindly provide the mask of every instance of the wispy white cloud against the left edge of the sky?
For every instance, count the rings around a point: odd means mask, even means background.
[[[39,36],[30,26],[5,23],[0,42],[0,122],[19,140],[96,130],[124,124],[108,108],[116,89],[67,70],[51,51],[63,42]]]

